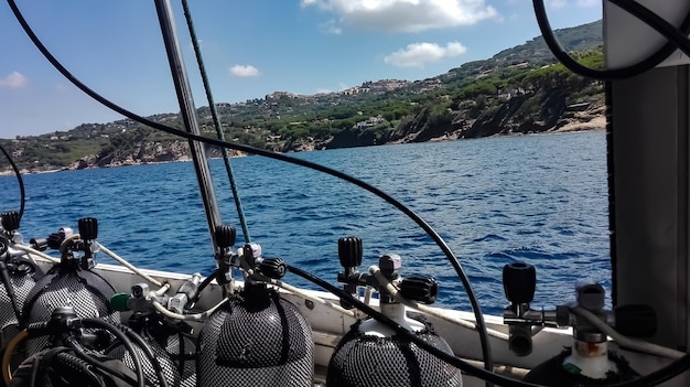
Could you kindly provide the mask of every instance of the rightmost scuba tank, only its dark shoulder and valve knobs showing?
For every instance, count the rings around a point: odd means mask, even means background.
[[[533,367],[525,381],[542,386],[610,386],[633,380],[639,374],[628,362],[608,350],[607,337],[587,319],[571,308],[589,312],[594,319],[615,321],[616,330],[627,336],[648,337],[656,331],[656,315],[646,305],[624,305],[613,312],[604,310],[605,291],[601,284],[580,286],[574,305],[559,305],[556,311],[531,310],[537,275],[531,265],[516,262],[503,270],[506,298],[504,323],[509,326],[508,347],[518,356],[531,353],[532,326],[572,326],[573,346]],[[612,319],[613,318],[613,319]]]

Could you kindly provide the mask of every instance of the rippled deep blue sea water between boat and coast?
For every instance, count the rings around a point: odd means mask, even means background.
[[[575,282],[611,289],[603,131],[498,137],[294,153],[401,201],[446,240],[482,308],[506,307],[504,265],[537,267],[533,305],[572,300]],[[3,161],[4,162],[4,161]],[[265,256],[333,283],[337,238],[364,240],[362,270],[382,252],[402,275],[433,275],[438,304],[470,310],[464,288],[431,238],[391,205],[335,178],[260,157],[231,161],[252,241]],[[241,228],[220,160],[211,161],[224,223]],[[209,273],[213,250],[190,162],[25,175],[22,233],[45,237],[77,219],[99,221],[99,241],[152,269]],[[14,178],[0,178],[0,209],[19,208]],[[99,261],[110,262],[105,255]],[[316,289],[288,275],[287,282]]]

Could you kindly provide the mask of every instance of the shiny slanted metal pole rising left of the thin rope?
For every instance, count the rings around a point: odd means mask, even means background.
[[[175,84],[175,92],[177,93],[182,123],[187,132],[201,135],[196,117],[196,108],[194,107],[194,100],[192,97],[192,89],[186,76],[182,52],[180,51],[180,41],[177,40],[177,34],[175,32],[175,22],[170,0],[155,0],[155,10],[161,24],[161,32],[165,43],[168,62],[170,63],[170,69]],[[188,141],[190,152],[192,153],[192,160],[194,161],[196,180],[198,182],[202,200],[204,202],[204,209],[206,211],[206,221],[208,222],[211,240],[213,243],[214,251],[216,251],[217,245],[214,232],[216,226],[220,225],[220,213],[218,212],[218,204],[214,192],[211,171],[208,169],[208,161],[206,159],[206,152],[203,143],[193,140]]]

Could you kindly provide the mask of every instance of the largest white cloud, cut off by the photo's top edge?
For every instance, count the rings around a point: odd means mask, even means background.
[[[302,0],[301,4],[333,12],[345,24],[402,32],[471,25],[498,17],[485,0]]]

